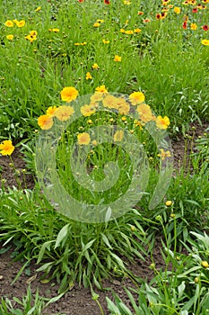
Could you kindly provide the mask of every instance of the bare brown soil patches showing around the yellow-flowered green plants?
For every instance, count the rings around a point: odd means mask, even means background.
[[[173,141],[173,151],[174,151],[174,167],[176,170],[179,169],[180,166],[183,166],[184,163],[187,164],[187,160],[185,160],[185,152],[189,154],[191,150],[193,150],[193,142],[198,136],[203,135],[205,129],[208,127],[208,123],[204,123],[203,126],[195,125],[194,129],[190,129],[188,132],[189,136],[192,136],[192,139],[185,139],[184,137],[179,137],[178,140]],[[185,143],[187,143],[187,149],[185,149]],[[13,152],[13,164],[15,169],[18,170],[17,174],[14,175],[13,166],[11,166],[11,160],[8,157],[0,158],[0,174],[1,178],[4,179],[4,186],[18,187],[20,184],[24,187],[32,189],[34,186],[33,176],[24,174],[22,169],[25,168],[25,163],[22,160],[22,154],[15,150]],[[2,245],[0,244],[0,249]],[[39,288],[39,296],[44,296],[48,298],[52,298],[57,296],[58,286],[57,284],[41,284],[40,283],[40,275],[36,273],[36,269],[38,266],[35,263],[30,264],[30,275],[22,275],[19,279],[14,283],[13,280],[15,276],[18,274],[22,267],[22,262],[13,263],[12,256],[13,248],[10,248],[6,253],[0,255],[0,299],[2,297],[9,298],[13,300],[13,297],[18,297],[22,300],[22,297],[26,294],[26,290],[28,287],[28,283],[30,281],[30,277],[33,275],[37,275],[36,279],[31,281],[30,287],[31,292],[35,293],[37,288]],[[155,263],[155,266],[160,269],[164,266],[164,261],[161,257],[161,240],[155,240],[155,246],[153,250],[152,259],[146,259],[146,261],[142,261],[139,259],[135,259],[135,263],[130,266],[130,270],[132,270],[135,275],[142,278],[144,281],[149,282],[153,277],[153,271],[150,268],[152,262]],[[130,279],[118,280],[111,279],[106,280],[103,283],[104,287],[109,287],[118,296],[126,302],[128,306],[128,299],[126,293],[123,290],[123,286],[133,286]],[[94,291],[100,295],[99,302],[104,310],[105,314],[109,314],[107,309],[106,296],[112,299],[112,294],[110,291],[100,291],[95,288]],[[14,306],[17,306],[16,302],[13,302]],[[76,284],[74,288],[65,293],[65,295],[57,302],[51,304],[48,309],[43,314],[72,314],[72,315],[99,315],[100,309],[96,302],[91,299],[91,291],[90,289],[79,288]],[[4,315],[4,314],[3,314]]]

